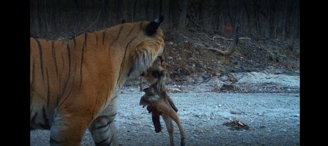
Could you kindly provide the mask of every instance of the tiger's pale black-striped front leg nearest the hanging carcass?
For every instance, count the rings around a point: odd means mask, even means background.
[[[116,96],[89,126],[89,131],[96,146],[118,146],[116,128],[114,126],[117,105]]]

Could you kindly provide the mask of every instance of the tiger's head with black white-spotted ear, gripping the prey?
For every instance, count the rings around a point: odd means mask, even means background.
[[[144,77],[150,84],[157,82],[158,85],[163,85],[167,76],[165,43],[163,31],[159,28],[162,22],[163,16],[152,22],[142,22],[140,24],[140,29],[144,33],[139,34],[138,38],[142,41],[136,45],[133,54],[134,67],[138,67],[140,76]],[[126,24],[125,21],[122,21],[122,23]],[[137,69],[132,68],[132,70]]]

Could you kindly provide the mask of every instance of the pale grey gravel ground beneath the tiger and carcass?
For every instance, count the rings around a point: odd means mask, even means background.
[[[164,129],[155,133],[146,108],[139,106],[144,92],[124,88],[119,95],[115,126],[120,145],[169,146],[169,135]],[[188,91],[170,93],[187,135],[187,145],[299,145],[299,93],[217,93]],[[241,114],[231,114],[238,110]],[[240,120],[250,126],[243,131],[228,130],[224,122]],[[174,123],[174,144],[180,144],[179,129]],[[30,145],[49,144],[47,130],[30,134]],[[82,146],[94,145],[87,131]]]

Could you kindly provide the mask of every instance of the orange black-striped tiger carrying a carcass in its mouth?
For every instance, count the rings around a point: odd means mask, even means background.
[[[76,146],[89,129],[95,145],[117,146],[114,119],[126,80],[165,84],[163,20],[125,22],[67,42],[30,37],[30,130],[50,130],[50,145]]]

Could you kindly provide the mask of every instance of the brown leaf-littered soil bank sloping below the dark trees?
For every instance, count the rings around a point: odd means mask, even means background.
[[[239,40],[236,52],[228,60],[207,48],[225,50],[231,41],[210,40],[198,30],[165,30],[167,66],[171,78],[183,80],[188,75],[214,75],[215,73],[264,72],[272,74],[299,75],[299,40],[290,49],[290,42],[255,36],[251,40]],[[209,33],[208,36],[222,36]],[[233,38],[230,36],[222,36]]]

